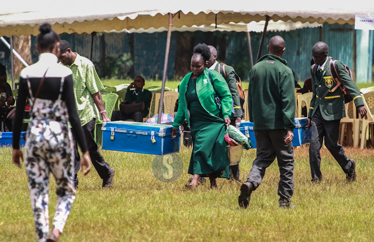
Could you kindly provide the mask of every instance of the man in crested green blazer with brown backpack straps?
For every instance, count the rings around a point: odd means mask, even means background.
[[[311,66],[313,97],[310,102],[308,113],[308,128],[312,126],[312,138],[309,146],[309,163],[312,173],[312,182],[319,182],[322,179],[321,154],[323,138],[325,137],[326,148],[338,161],[346,179],[349,182],[356,180],[356,162],[349,159],[343,146],[338,144],[340,120],[346,116],[344,105],[344,93],[333,81],[330,71],[331,57],[327,56],[329,46],[325,42],[318,42],[312,48],[312,55],[318,70],[313,73]],[[335,66],[341,83],[350,92],[357,107],[358,113],[363,117],[366,115],[364,102],[359,88],[351,76],[345,70],[340,61],[335,61]]]

